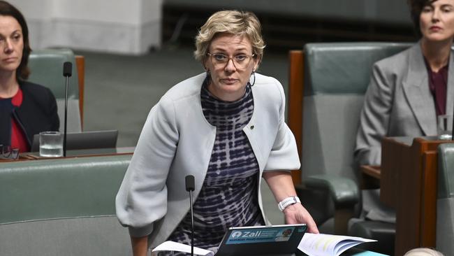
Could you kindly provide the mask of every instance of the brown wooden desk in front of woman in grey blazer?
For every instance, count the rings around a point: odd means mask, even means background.
[[[383,138],[380,199],[396,209],[395,255],[436,246],[437,148],[441,143],[452,141],[414,138],[409,144]]]

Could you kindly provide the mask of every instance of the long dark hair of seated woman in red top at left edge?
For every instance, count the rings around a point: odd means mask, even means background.
[[[22,50],[22,59],[16,70],[16,78],[26,80],[29,77],[30,70],[27,64],[29,63],[29,55],[31,52],[29,43],[29,28],[25,22],[24,15],[17,8],[12,6],[7,1],[0,0],[0,15],[14,17],[19,22],[22,28],[22,38],[24,40],[24,50]]]

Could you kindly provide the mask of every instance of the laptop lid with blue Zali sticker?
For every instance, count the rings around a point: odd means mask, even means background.
[[[305,224],[231,227],[216,255],[292,255],[306,229]]]

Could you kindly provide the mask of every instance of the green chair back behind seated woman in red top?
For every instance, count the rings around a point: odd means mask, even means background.
[[[64,62],[73,64],[72,76],[68,79],[68,132],[82,131],[82,121],[79,110],[78,69],[74,53],[68,49],[34,50],[29,57],[31,71],[29,81],[44,85],[52,90],[57,99],[60,131],[64,129],[64,98],[66,78],[63,76]]]

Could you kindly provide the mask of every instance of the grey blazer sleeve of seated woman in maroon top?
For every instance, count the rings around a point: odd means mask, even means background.
[[[356,135],[354,152],[357,164],[381,164],[381,139],[388,133],[393,106],[393,79],[380,64],[374,64],[372,77],[365,94],[363,110]]]

